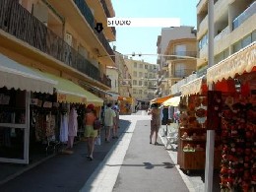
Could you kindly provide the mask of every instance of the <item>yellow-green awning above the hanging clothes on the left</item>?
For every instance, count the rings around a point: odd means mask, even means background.
[[[96,106],[103,105],[103,99],[86,91],[74,82],[48,73],[43,73],[43,75],[58,82],[54,87],[59,102],[94,103]]]

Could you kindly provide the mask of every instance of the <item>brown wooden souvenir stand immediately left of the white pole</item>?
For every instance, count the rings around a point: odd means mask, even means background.
[[[207,96],[192,95],[183,96],[180,102],[177,161],[180,168],[189,173],[205,168],[208,99]],[[218,168],[221,157],[218,144],[215,156],[215,168]]]

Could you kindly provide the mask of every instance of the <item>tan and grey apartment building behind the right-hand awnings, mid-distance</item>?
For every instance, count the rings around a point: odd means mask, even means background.
[[[171,95],[171,86],[196,70],[197,39],[193,27],[162,29],[158,38],[160,95]],[[171,55],[171,56],[166,56]]]

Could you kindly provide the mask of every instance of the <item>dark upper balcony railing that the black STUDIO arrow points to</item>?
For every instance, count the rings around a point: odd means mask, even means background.
[[[87,22],[91,26],[92,30],[96,33],[98,40],[103,45],[103,47],[105,48],[107,53],[109,55],[114,55],[114,52],[113,52],[111,46],[109,45],[108,41],[106,40],[104,34],[102,32],[96,32],[95,18],[94,18],[92,11],[89,8],[89,6],[87,5],[86,1],[85,0],[74,0],[74,2],[77,5],[77,7],[79,8],[81,14],[84,16],[84,18],[87,20]],[[110,57],[110,58],[115,62],[115,57]]]

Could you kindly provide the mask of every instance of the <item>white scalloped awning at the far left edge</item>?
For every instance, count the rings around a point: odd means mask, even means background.
[[[53,94],[57,82],[0,53],[0,88],[27,90],[28,92]]]

